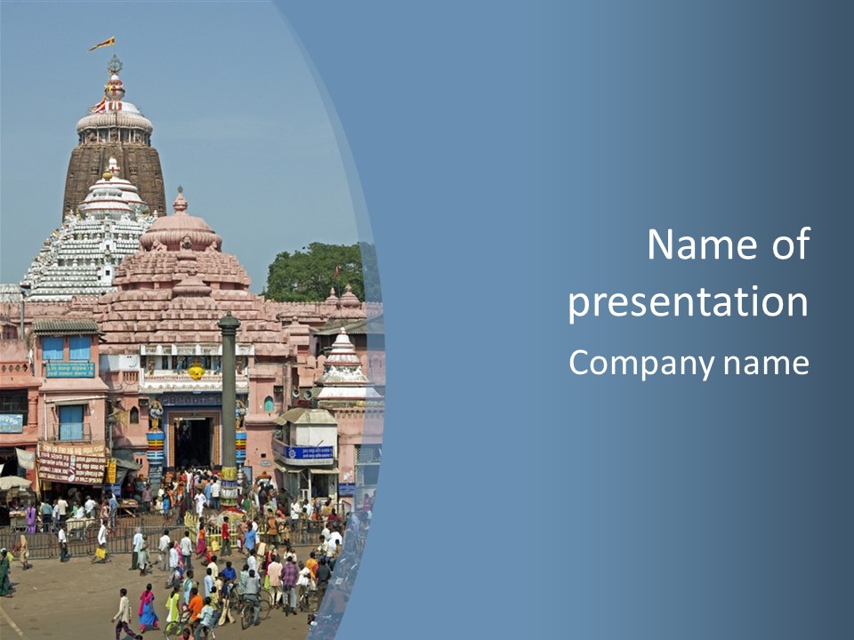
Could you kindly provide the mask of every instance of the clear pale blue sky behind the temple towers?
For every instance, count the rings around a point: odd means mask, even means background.
[[[359,239],[326,109],[275,5],[0,0],[0,282],[19,282],[60,225],[75,125],[114,53],[125,99],[154,124],[169,212],[182,185],[254,292],[278,252]]]

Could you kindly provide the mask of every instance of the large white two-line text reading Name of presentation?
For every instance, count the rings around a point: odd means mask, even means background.
[[[772,245],[777,260],[789,260],[794,256],[804,260],[805,245],[810,239],[803,227],[798,236],[779,236]],[[673,244],[673,229],[667,229],[663,237],[656,229],[649,229],[649,260],[659,256],[665,260],[753,260],[757,243],[752,236],[733,240],[729,236],[681,236],[678,245]],[[697,292],[677,293],[623,293],[597,292],[569,294],[569,324],[585,316],[634,316],[651,314],[667,316],[704,317],[806,317],[807,296],[802,292],[761,292],[757,284],[745,291],[738,287],[735,292],[707,292],[700,287]]]

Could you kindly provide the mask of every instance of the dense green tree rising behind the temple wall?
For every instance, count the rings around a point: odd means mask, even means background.
[[[311,302],[326,300],[332,287],[341,295],[347,284],[359,300],[365,300],[359,244],[311,243],[302,251],[276,256],[267,271],[264,293],[270,300]]]

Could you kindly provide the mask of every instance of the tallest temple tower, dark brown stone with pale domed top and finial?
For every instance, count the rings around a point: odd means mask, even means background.
[[[62,218],[77,211],[89,188],[98,180],[110,157],[115,157],[122,177],[139,188],[149,213],[166,215],[166,198],[160,156],[151,146],[154,127],[132,103],[125,102],[125,85],[118,73],[122,63],[113,56],[107,67],[104,97],[77,123],[77,148],[71,152],[62,200]],[[61,220],[60,219],[60,220]]]

